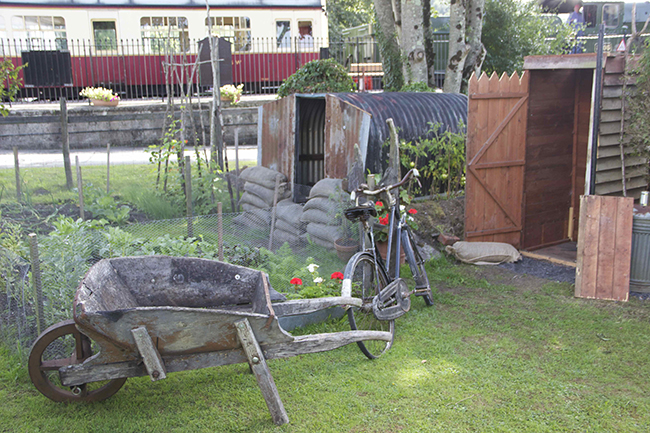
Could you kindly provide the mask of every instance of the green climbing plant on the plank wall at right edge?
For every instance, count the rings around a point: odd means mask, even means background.
[[[647,161],[650,160],[650,43],[645,43],[645,49],[638,57],[636,69],[636,88],[626,91],[626,101],[629,104],[630,123],[625,135],[630,137],[630,145],[635,153]],[[650,183],[650,173],[646,170],[646,181]]]

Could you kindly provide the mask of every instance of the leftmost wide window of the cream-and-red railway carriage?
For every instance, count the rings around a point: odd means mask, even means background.
[[[25,49],[68,49],[63,17],[14,15],[11,29],[14,39],[24,43]]]

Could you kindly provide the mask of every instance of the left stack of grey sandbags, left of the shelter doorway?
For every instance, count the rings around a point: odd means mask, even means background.
[[[259,165],[242,171],[240,179],[245,181],[244,194],[239,204],[245,212],[233,219],[235,224],[252,229],[269,229],[275,179],[278,175],[280,176],[278,201],[280,201],[290,195],[285,175]]]

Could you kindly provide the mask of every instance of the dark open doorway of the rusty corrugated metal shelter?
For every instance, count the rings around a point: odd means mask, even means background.
[[[309,190],[325,173],[325,99],[296,97],[294,201],[307,201]]]

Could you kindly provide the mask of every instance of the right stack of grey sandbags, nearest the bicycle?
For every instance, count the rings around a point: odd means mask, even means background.
[[[350,195],[343,191],[341,182],[322,179],[309,192],[300,220],[307,224],[307,235],[316,245],[334,248],[334,241],[343,236],[341,218],[343,210],[350,207]]]

